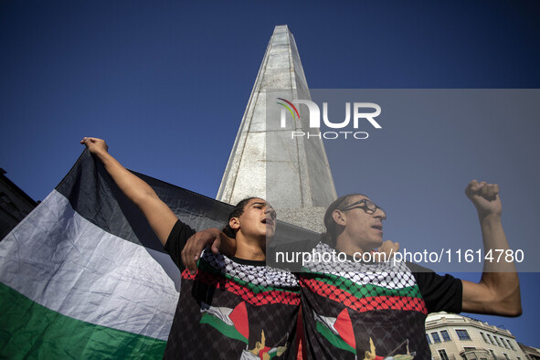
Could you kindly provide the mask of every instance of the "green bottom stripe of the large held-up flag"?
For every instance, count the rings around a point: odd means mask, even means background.
[[[163,340],[64,316],[0,283],[0,358],[161,359]]]

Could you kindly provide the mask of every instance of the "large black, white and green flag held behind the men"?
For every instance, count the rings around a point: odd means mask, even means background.
[[[232,206],[136,174],[192,228]],[[0,242],[0,357],[161,358],[180,272],[88,150]]]

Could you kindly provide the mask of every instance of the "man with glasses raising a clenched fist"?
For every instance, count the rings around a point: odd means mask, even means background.
[[[465,193],[478,212],[484,252],[509,249],[498,185],[473,180]],[[392,260],[357,261],[355,255],[381,246],[385,219],[386,212],[361,194],[328,207],[316,251],[335,249],[348,258],[312,261],[300,274],[307,358],[429,359],[429,312],[521,314],[514,263],[504,259],[485,264],[479,283]]]

